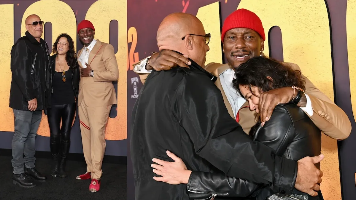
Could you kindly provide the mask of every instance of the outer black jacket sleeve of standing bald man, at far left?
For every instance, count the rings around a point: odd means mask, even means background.
[[[11,49],[12,80],[19,86],[26,101],[36,98],[31,81],[32,53],[24,40],[19,40]]]

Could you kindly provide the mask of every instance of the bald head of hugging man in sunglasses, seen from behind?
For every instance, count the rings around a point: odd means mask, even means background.
[[[209,47],[205,44],[205,37],[194,35],[205,35],[203,23],[196,16],[183,12],[170,14],[158,27],[159,51],[162,49],[178,51],[188,55],[199,65],[204,65]]]

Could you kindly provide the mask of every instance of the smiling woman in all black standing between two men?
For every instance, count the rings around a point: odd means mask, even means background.
[[[49,95],[48,125],[51,131],[50,147],[54,158],[52,177],[66,178],[64,171],[70,146],[70,130],[76,111],[79,87],[79,67],[74,41],[66,33],[57,37],[53,44],[52,88]],[[62,121],[62,126],[61,125]]]

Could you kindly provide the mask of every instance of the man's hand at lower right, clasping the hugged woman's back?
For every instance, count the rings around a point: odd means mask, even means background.
[[[295,189],[308,193],[310,196],[316,196],[316,191],[320,190],[321,177],[323,172],[315,167],[314,164],[323,160],[324,155],[314,157],[304,157],[298,160],[297,180],[295,181]],[[316,191],[314,191],[316,190]]]

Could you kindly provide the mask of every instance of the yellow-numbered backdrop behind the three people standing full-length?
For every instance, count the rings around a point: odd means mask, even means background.
[[[25,19],[36,14],[45,22],[42,38],[52,49],[52,44],[61,33],[74,39],[77,52],[83,47],[77,36],[80,21],[90,20],[95,27],[95,39],[112,44],[119,67],[119,79],[114,86],[117,105],[110,111],[106,126],[106,155],[127,156],[127,99],[131,99],[132,86],[127,84],[127,3],[112,1],[0,1],[0,16],[4,26],[0,30],[0,148],[11,148],[14,131],[14,114],[9,108],[11,84],[11,47],[25,35]],[[36,150],[49,151],[49,127],[43,113],[36,137]],[[75,116],[71,132],[71,153],[83,153],[78,116]]]

